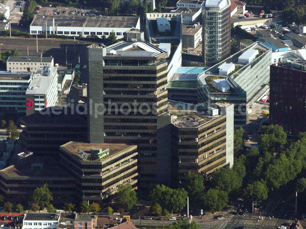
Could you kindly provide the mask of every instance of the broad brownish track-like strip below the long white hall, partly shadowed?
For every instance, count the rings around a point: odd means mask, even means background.
[[[43,57],[54,57],[54,64],[66,65],[66,47],[67,62],[73,65],[78,63],[80,56],[80,64],[85,65],[86,46],[93,42],[76,40],[74,53],[73,39],[55,39],[55,38],[38,38],[38,52],[36,52],[36,37],[0,37],[1,52],[17,48],[21,56],[27,56],[27,47],[29,46],[29,56],[39,57],[43,52]]]

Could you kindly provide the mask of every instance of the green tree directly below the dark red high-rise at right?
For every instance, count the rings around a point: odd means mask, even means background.
[[[259,149],[261,152],[280,153],[287,143],[287,135],[283,127],[269,125],[262,127],[262,134],[259,137]]]

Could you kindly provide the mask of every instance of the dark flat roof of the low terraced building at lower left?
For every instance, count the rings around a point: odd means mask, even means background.
[[[41,164],[42,169],[32,169],[32,164]],[[26,157],[19,163],[9,166],[0,170],[5,176],[8,177],[32,177],[32,178],[43,178],[43,177],[71,177],[64,169],[59,166],[59,162],[55,161],[51,157]],[[56,168],[56,169],[54,169]]]

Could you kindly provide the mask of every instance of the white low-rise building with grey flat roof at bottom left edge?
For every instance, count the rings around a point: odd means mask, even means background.
[[[57,213],[25,213],[21,229],[56,229],[59,218]]]

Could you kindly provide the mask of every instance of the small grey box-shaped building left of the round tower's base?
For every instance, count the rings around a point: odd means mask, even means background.
[[[182,25],[183,49],[195,49],[202,41],[202,25]]]

